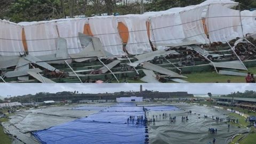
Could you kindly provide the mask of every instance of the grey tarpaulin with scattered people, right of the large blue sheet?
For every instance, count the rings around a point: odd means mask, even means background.
[[[193,106],[186,103],[178,104],[180,109],[165,111],[166,117],[163,117],[162,111],[150,111],[148,118],[155,118],[155,124],[148,124],[150,143],[209,143],[213,138],[217,139],[216,143],[229,143],[231,138],[238,133],[246,133],[250,129],[245,127],[239,128],[235,125],[230,125],[228,128],[227,116],[230,113],[227,110],[216,109],[212,107]],[[182,106],[183,105],[183,106]],[[192,113],[188,114],[187,111]],[[156,116],[158,117],[156,118]],[[161,115],[161,116],[159,116]],[[208,118],[204,118],[208,115]],[[176,117],[174,122],[170,121],[171,117]],[[182,116],[188,116],[187,121],[182,121]],[[223,118],[223,122],[212,119],[217,116]],[[211,134],[209,128],[218,129],[218,132]]]

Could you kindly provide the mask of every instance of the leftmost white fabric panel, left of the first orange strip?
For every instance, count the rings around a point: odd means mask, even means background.
[[[0,55],[19,55],[19,52],[23,53],[21,31],[21,26],[0,20]]]

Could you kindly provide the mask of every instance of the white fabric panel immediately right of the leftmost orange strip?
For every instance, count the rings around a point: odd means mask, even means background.
[[[55,22],[24,26],[30,55],[55,54],[55,38],[58,38]]]

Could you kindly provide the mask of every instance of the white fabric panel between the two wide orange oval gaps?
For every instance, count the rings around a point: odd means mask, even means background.
[[[114,16],[93,17],[89,19],[89,24],[93,35],[100,38],[105,51],[113,55],[125,55]]]

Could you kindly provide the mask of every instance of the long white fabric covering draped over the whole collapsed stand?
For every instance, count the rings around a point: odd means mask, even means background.
[[[79,53],[85,47],[81,45],[78,33],[84,33],[85,25],[89,25],[93,36],[100,39],[103,50],[116,56],[151,52],[150,41],[158,50],[179,43],[226,43],[236,37],[256,33],[256,12],[230,9],[236,5],[238,3],[229,0],[207,0],[199,5],[116,17],[20,23],[0,20],[0,55],[20,55],[25,50],[25,43],[30,55],[56,54],[59,37],[66,39],[68,54]],[[122,22],[129,31],[125,46],[127,53],[123,50],[118,22]]]

